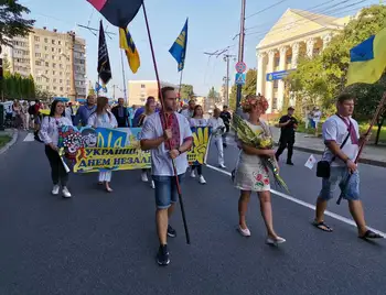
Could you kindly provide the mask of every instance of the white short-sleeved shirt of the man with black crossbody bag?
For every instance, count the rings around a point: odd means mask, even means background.
[[[360,127],[357,122],[350,118],[350,121],[352,123],[351,128],[354,128],[357,139],[360,139]],[[336,114],[330,117],[324,123],[323,123],[323,140],[324,141],[334,141],[339,146],[342,145],[343,141],[347,136],[349,128],[344,123],[344,121],[337,117]],[[355,160],[357,153],[358,153],[360,146],[358,144],[354,144],[351,140],[351,136],[349,136],[346,143],[344,144],[342,152],[349,156],[352,161]],[[323,153],[322,159],[324,161],[331,162],[333,157],[333,153],[326,149]],[[331,163],[331,166],[345,166],[346,164],[339,157],[335,157],[334,162]]]

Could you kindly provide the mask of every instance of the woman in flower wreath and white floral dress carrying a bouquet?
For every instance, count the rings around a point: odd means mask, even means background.
[[[247,124],[261,136],[271,136],[268,124],[260,119],[260,116],[268,108],[267,99],[257,96],[247,96],[243,101],[243,111],[249,114]],[[242,149],[235,173],[235,187],[240,189],[238,200],[239,225],[238,230],[242,236],[249,237],[250,231],[246,223],[246,214],[251,192],[256,192],[260,200],[260,211],[267,228],[266,242],[269,244],[283,243],[274,230],[272,207],[269,185],[269,171],[265,166],[261,157],[274,157],[274,150],[260,150],[238,141]]]

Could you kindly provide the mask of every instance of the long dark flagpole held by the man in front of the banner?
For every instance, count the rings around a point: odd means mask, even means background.
[[[164,110],[164,101],[163,101],[163,96],[162,96],[162,91],[161,91],[161,81],[160,81],[160,76],[159,76],[159,73],[158,73],[158,66],[157,66],[157,61],[156,61],[156,53],[154,53],[153,42],[152,42],[152,39],[151,39],[151,34],[150,34],[150,26],[149,26],[148,14],[147,14],[147,11],[146,11],[146,8],[144,8],[144,1],[142,2],[142,8],[143,8],[143,15],[144,15],[146,28],[147,28],[148,36],[149,36],[151,56],[152,56],[153,65],[154,65],[154,72],[156,72],[158,89],[159,89],[159,94],[160,94],[161,106],[162,106],[162,109]],[[164,122],[168,122],[167,121],[167,114],[165,114],[164,111],[162,111],[162,114],[163,114]],[[164,128],[167,128],[167,125],[164,125]],[[169,143],[170,143],[170,141],[169,141]],[[170,146],[171,146],[171,144],[170,144]],[[181,186],[180,186],[180,182],[179,182],[179,175],[176,173],[174,159],[172,159],[172,165],[173,165],[173,172],[174,172],[174,176],[175,176],[176,190],[178,190],[178,194],[179,194],[182,220],[183,220],[183,225],[184,225],[184,229],[185,229],[186,243],[190,244],[191,243],[191,238],[190,238],[190,234],[189,234],[187,222],[186,222],[186,217],[185,217],[185,209],[184,209],[184,206],[183,206]]]

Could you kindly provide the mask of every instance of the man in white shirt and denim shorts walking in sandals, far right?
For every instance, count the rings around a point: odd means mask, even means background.
[[[323,139],[328,149],[324,151],[322,160],[329,162],[331,167],[330,177],[322,181],[313,225],[321,230],[332,231],[332,228],[324,222],[324,211],[328,201],[333,198],[339,186],[343,198],[349,201],[350,212],[357,226],[358,237],[362,239],[383,238],[366,227],[360,198],[360,174],[354,161],[361,144],[363,141],[367,141],[368,138],[360,138],[358,124],[352,118],[354,98],[351,95],[342,94],[337,98],[336,109],[336,114],[330,117],[323,123]],[[350,181],[346,184],[349,176]]]

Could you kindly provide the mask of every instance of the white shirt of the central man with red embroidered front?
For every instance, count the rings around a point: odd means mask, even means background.
[[[192,138],[192,131],[187,119],[182,114],[174,112],[179,121],[180,127],[180,145],[183,144],[184,140]],[[148,117],[143,124],[140,138],[142,140],[154,140],[163,135],[163,128],[160,118],[160,113],[153,113]],[[157,176],[174,176],[172,159],[164,143],[161,143],[158,148],[151,150],[151,168],[152,175]],[[178,175],[184,174],[189,166],[186,153],[182,153],[175,160],[175,167]]]

